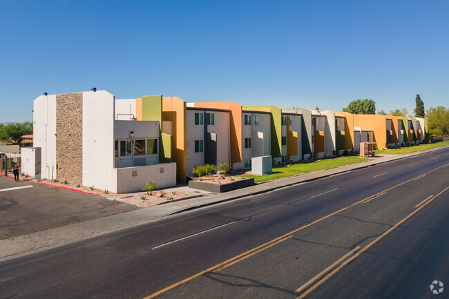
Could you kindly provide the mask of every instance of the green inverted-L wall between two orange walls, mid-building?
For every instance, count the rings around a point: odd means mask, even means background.
[[[272,105],[242,106],[242,110],[271,112],[271,156],[282,155],[282,110]]]

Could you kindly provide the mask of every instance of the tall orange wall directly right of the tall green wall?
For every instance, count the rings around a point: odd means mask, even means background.
[[[187,177],[187,104],[179,97],[162,97],[162,121],[171,121],[171,157],[176,162],[176,180],[186,182]]]

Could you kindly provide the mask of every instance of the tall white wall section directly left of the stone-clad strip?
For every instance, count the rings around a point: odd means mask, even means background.
[[[33,146],[41,148],[41,178],[56,178],[56,95],[37,97],[32,118]]]

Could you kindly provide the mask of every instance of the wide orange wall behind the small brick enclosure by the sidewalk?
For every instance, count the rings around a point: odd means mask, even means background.
[[[386,148],[387,118],[385,115],[354,114],[354,126],[360,126],[362,130],[372,130],[377,148]]]

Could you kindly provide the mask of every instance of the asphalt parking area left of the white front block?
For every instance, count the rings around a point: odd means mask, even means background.
[[[0,240],[135,209],[101,196],[0,176]]]

